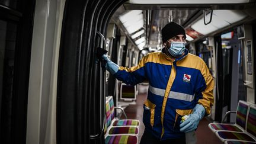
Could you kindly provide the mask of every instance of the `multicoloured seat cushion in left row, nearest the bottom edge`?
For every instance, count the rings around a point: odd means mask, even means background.
[[[137,136],[131,135],[111,135],[105,138],[105,144],[136,144]]]

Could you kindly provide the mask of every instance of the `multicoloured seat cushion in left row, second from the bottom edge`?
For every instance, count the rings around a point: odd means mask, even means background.
[[[137,127],[111,127],[108,134],[137,134],[138,131]]]

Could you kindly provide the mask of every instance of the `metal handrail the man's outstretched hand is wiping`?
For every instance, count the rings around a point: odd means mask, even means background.
[[[105,37],[103,36],[103,34],[101,34],[100,32],[97,31],[98,36],[100,36],[101,41],[100,41],[100,47],[102,47],[103,49],[106,48],[106,41],[105,41]],[[100,67],[101,67],[101,63],[100,63]],[[102,70],[100,71],[100,79],[102,79]],[[102,85],[102,81],[100,81],[100,87]],[[102,88],[100,88],[102,89]],[[102,94],[101,94],[102,95]],[[104,94],[103,94],[104,95]],[[101,97],[100,97],[101,98]],[[104,127],[105,127],[105,95],[103,96],[103,104],[100,104],[101,106],[103,106],[102,108],[100,108],[101,110],[103,110],[103,122],[101,123],[100,127],[101,128],[101,132],[97,133],[96,135],[90,135],[90,139],[98,139],[104,132]],[[101,113],[100,113],[101,114]]]

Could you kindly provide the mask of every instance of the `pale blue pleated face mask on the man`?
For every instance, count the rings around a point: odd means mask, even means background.
[[[184,42],[178,41],[178,42],[169,42],[169,43],[171,43],[171,47],[168,48],[168,52],[172,56],[179,57],[183,54],[183,52],[185,50],[185,43]]]

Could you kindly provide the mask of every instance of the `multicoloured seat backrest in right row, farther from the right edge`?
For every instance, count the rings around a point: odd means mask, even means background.
[[[246,119],[247,119],[247,111],[249,104],[245,101],[239,101],[238,107],[236,110],[236,124],[245,129]]]

